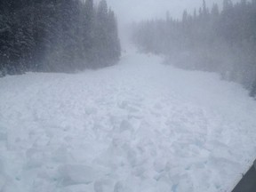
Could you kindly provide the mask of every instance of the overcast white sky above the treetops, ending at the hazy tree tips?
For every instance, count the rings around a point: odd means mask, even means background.
[[[144,20],[155,17],[165,17],[169,10],[174,18],[180,18],[183,10],[193,12],[202,5],[203,0],[107,0],[108,5],[119,16],[119,20]],[[222,4],[223,0],[205,0],[212,7],[213,3]],[[236,2],[237,0],[233,0]]]

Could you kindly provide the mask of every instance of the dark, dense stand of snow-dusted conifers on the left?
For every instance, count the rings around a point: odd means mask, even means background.
[[[0,76],[102,68],[120,53],[106,0],[0,1]]]

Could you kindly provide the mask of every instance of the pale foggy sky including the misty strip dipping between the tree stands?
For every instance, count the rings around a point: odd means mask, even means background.
[[[166,12],[174,19],[180,19],[182,12],[194,12],[202,6],[203,0],[107,0],[111,9],[116,12],[119,36],[121,44],[127,47],[130,44],[129,32],[133,21],[150,20],[165,18]],[[239,0],[233,0],[233,3]],[[97,0],[100,2],[100,0]],[[219,4],[222,7],[223,0],[206,0],[206,6],[212,7],[212,4]]]

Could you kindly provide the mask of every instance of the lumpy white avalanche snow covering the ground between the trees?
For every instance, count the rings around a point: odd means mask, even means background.
[[[161,62],[1,78],[0,191],[230,191],[256,156],[256,102]]]

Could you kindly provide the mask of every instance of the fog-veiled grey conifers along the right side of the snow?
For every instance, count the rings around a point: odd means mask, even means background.
[[[256,95],[256,0],[205,1],[181,20],[146,20],[133,26],[132,39],[144,52],[161,53],[180,68],[217,72]]]

